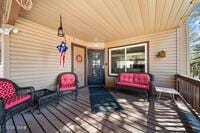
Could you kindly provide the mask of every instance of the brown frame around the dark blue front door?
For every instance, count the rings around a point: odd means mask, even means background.
[[[89,50],[101,50],[101,51],[103,51],[103,66],[104,66],[104,86],[105,86],[105,84],[106,84],[106,72],[105,72],[105,52],[106,52],[106,50],[105,50],[105,48],[87,48],[87,62],[89,61],[89,56],[88,56],[88,54],[89,54]],[[87,63],[87,71],[88,71],[88,73],[89,73],[89,63]],[[88,81],[88,74],[87,74],[87,81]],[[98,86],[98,85],[97,85]]]

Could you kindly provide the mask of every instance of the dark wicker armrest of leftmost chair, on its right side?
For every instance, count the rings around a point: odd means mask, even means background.
[[[19,89],[17,89],[17,94],[31,94],[32,99],[34,99],[34,92],[35,92],[35,88],[32,86],[28,86],[28,87],[20,87]]]

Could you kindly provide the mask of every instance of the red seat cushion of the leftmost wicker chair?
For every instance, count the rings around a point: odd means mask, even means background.
[[[31,95],[17,95],[9,97],[5,102],[5,109],[7,110],[12,107],[15,107],[29,99],[31,99]]]

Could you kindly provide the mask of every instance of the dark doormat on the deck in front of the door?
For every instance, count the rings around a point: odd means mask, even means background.
[[[120,111],[123,108],[104,87],[89,87],[90,105],[93,113]]]

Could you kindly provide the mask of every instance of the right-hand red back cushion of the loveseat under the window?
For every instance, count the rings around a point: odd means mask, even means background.
[[[148,74],[133,74],[133,82],[148,85],[150,83],[150,76]]]

